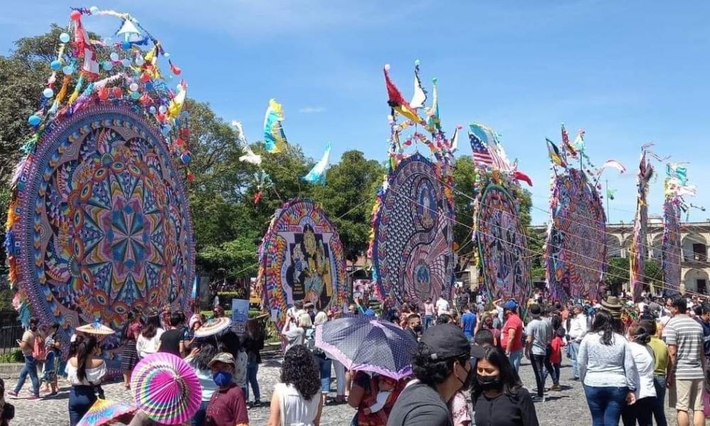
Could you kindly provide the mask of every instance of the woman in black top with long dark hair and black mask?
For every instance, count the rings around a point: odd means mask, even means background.
[[[476,358],[471,392],[476,426],[538,426],[535,405],[508,357],[495,346]]]

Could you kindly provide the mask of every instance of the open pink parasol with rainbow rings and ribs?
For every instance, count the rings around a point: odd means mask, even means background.
[[[164,352],[148,355],[136,365],[131,391],[138,408],[165,425],[189,420],[202,400],[195,370],[179,356]]]

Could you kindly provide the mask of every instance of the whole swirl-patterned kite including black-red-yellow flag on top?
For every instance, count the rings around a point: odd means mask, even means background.
[[[417,113],[426,96],[415,67],[415,99],[405,102],[391,82],[385,67],[391,115],[390,168],[373,207],[371,244],[373,279],[378,296],[392,296],[400,302],[423,303],[427,297],[449,297],[454,281],[454,204],[452,196],[452,144],[439,124],[437,87],[427,119]],[[436,83],[436,82],[435,82]],[[395,113],[408,121],[395,122]],[[430,140],[415,133],[402,140],[402,131],[421,125],[432,133]],[[435,161],[420,153],[405,155],[405,146],[427,146]]]

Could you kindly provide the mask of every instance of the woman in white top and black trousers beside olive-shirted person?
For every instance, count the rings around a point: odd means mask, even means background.
[[[628,327],[628,339],[636,363],[636,402],[626,405],[621,420],[624,426],[633,426],[637,421],[640,426],[651,426],[656,404],[656,388],[653,386],[655,359],[653,349],[647,345],[651,337],[644,327],[634,323]]]

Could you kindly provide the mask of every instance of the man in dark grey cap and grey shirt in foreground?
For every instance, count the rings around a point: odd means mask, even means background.
[[[474,356],[483,354],[479,346]],[[412,359],[417,378],[397,398],[387,426],[453,426],[447,407],[454,393],[467,391],[474,380],[471,344],[456,324],[430,327]]]

